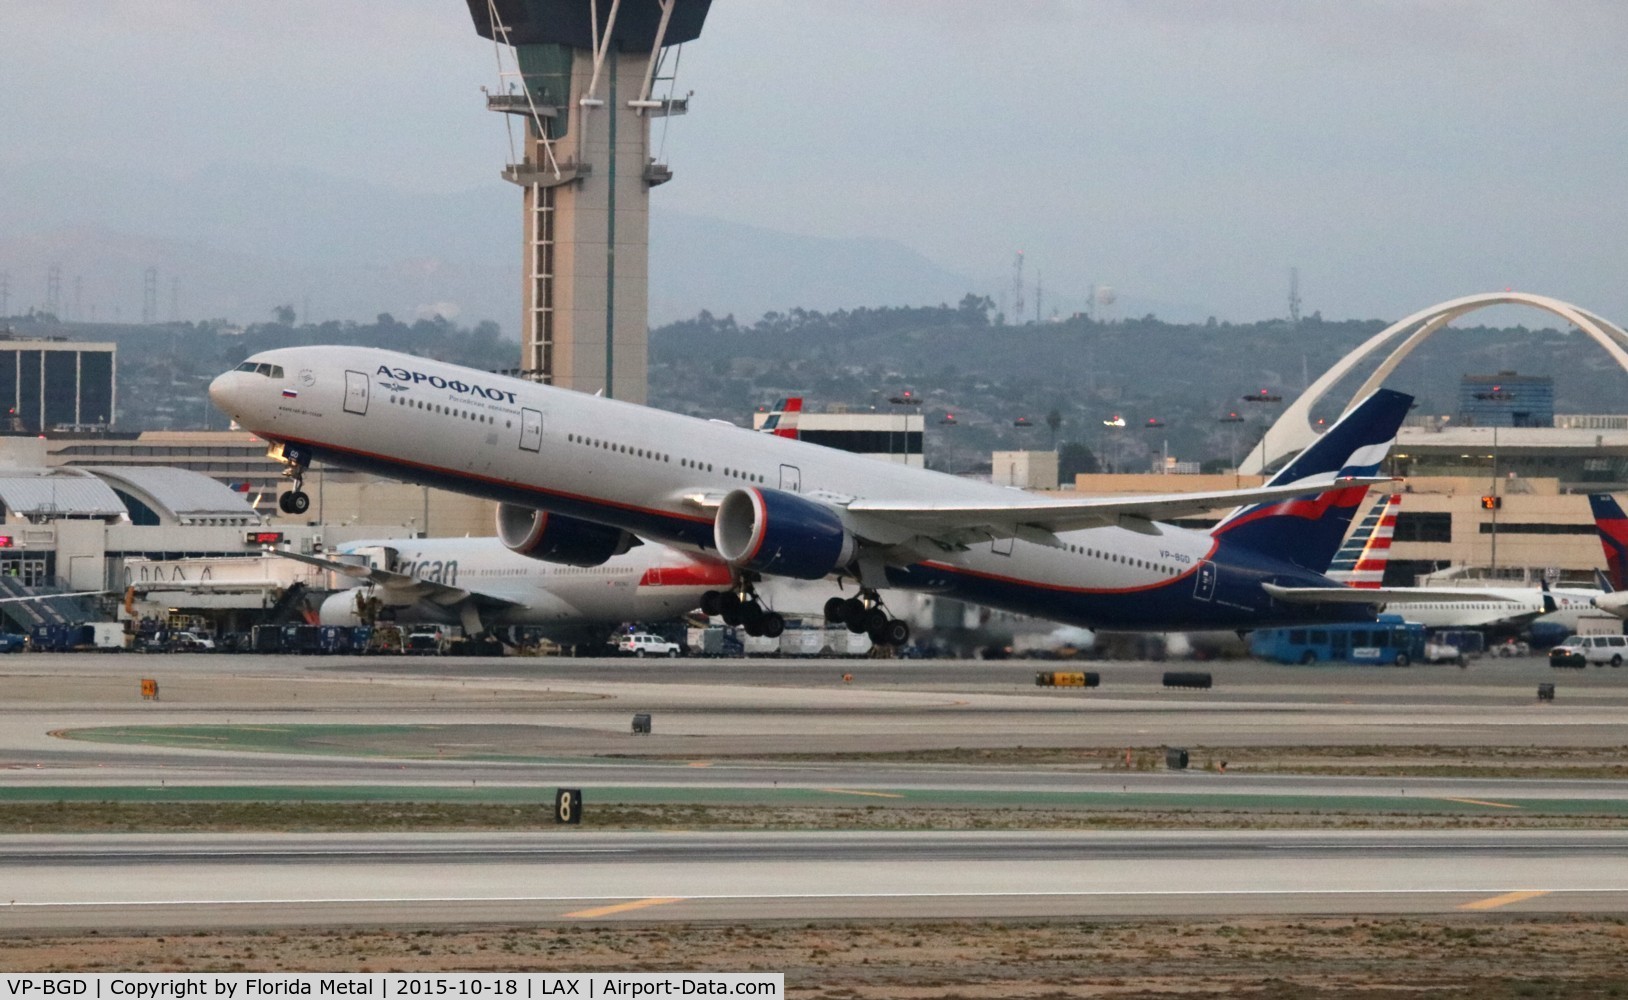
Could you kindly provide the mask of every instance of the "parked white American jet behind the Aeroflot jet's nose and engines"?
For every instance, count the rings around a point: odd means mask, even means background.
[[[363,603],[378,601],[402,622],[459,624],[469,635],[539,625],[562,642],[602,638],[606,627],[622,622],[677,617],[734,581],[723,562],[666,546],[638,546],[588,567],[527,559],[495,537],[350,542],[329,557],[277,554],[355,583],[322,601],[324,625],[360,624],[373,617]]]

